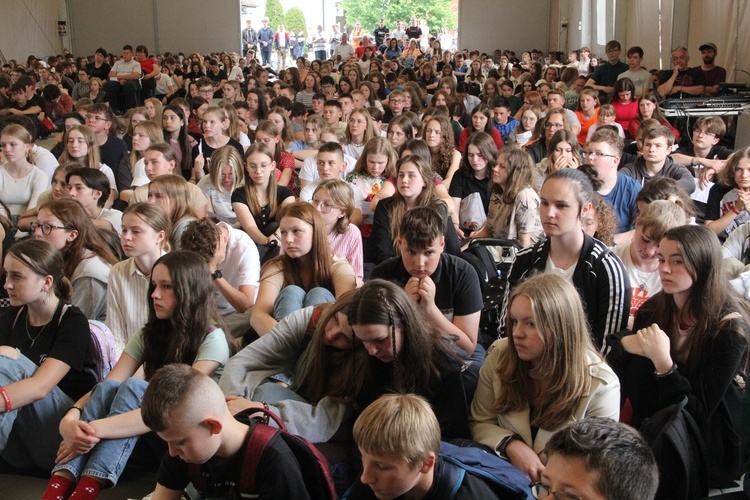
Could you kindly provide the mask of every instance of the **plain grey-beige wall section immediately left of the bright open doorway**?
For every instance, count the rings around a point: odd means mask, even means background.
[[[150,53],[239,50],[237,0],[68,0],[74,54],[125,44]]]

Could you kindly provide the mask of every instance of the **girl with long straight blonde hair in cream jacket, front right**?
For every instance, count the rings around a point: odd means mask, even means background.
[[[508,338],[495,341],[471,403],[472,439],[521,469],[544,470],[552,435],[586,417],[620,415],[620,382],[591,343],[576,289],[555,274],[518,285]]]

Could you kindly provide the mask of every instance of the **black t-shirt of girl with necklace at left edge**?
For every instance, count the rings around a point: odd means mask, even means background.
[[[57,386],[77,401],[96,385],[96,364],[86,316],[76,306],[69,305],[60,318],[62,309],[60,301],[52,319],[43,327],[28,324],[26,306],[7,309],[0,314],[0,345],[20,349],[37,366],[47,358],[69,365],[70,370]]]

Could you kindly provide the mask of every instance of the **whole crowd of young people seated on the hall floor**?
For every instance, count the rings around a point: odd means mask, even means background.
[[[740,477],[750,147],[658,105],[715,95],[714,44],[649,72],[617,41],[451,52],[412,18],[372,40],[319,27],[310,61],[267,24],[243,54],[3,67],[0,463],[51,471],[43,498],[95,498],[150,436],[154,499],[214,456],[204,493],[228,498],[232,415],[268,410],[346,450],[346,498],[441,498],[441,440],[536,498],[652,498],[676,457],[638,429],[685,400],[707,484]],[[523,248],[490,345],[461,257],[477,238]],[[282,463],[261,497],[305,498]]]

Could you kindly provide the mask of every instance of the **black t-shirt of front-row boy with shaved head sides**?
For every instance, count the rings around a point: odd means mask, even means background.
[[[209,460],[201,466],[205,489],[204,498],[243,498],[238,480],[247,473],[242,469],[245,448],[250,433],[245,438],[242,448],[232,457],[225,460]],[[260,499],[277,498],[310,498],[294,453],[280,435],[271,438],[258,462],[255,477]],[[182,491],[190,483],[188,465],[180,458],[164,455],[156,481],[170,490]],[[250,492],[248,492],[250,493]]]

